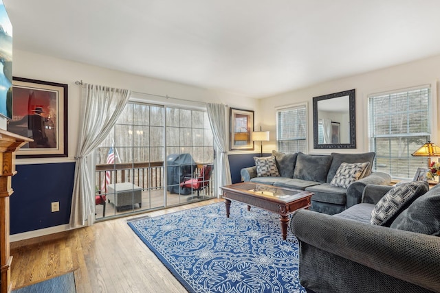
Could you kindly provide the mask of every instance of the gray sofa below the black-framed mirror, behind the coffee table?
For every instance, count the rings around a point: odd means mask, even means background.
[[[333,215],[361,202],[362,192],[367,184],[388,185],[391,176],[382,172],[371,172],[374,152],[362,154],[331,153],[309,155],[302,152],[284,154],[272,151],[280,176],[257,176],[256,167],[241,169],[244,181],[278,187],[288,187],[314,192],[311,197],[311,211]],[[347,188],[331,185],[341,163],[369,162],[360,180]]]

